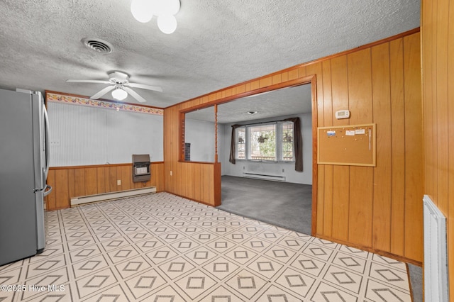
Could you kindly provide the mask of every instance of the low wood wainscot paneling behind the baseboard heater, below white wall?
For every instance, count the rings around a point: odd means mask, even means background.
[[[45,198],[47,211],[70,207],[70,198],[156,186],[164,191],[164,162],[152,162],[151,179],[133,182],[132,164],[103,164],[50,168],[48,184],[52,192]],[[117,185],[121,180],[121,185]]]

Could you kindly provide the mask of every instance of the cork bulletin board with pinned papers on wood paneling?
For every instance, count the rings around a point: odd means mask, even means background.
[[[317,130],[317,163],[375,167],[375,123],[319,127]]]

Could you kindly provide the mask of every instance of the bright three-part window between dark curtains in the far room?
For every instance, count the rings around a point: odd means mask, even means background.
[[[236,128],[236,159],[294,161],[292,122],[245,125]]]

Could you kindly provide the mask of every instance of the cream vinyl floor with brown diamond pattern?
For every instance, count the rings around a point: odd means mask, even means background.
[[[411,301],[406,265],[167,193],[46,213],[0,301]]]

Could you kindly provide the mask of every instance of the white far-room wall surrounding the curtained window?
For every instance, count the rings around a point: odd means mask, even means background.
[[[296,116],[279,116],[277,118],[267,118],[253,122],[280,121],[284,118]],[[243,177],[243,172],[271,174],[284,176],[287,182],[297,184],[312,184],[312,115],[311,113],[301,114],[301,134],[303,136],[303,172],[297,172],[294,169],[294,163],[285,162],[250,162],[245,160],[236,160],[236,164],[228,162],[231,145],[231,123],[218,125],[218,152],[219,161],[221,162],[221,174],[235,177]]]

